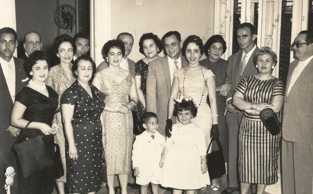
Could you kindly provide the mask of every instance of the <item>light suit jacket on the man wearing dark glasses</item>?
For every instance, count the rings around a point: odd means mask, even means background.
[[[286,91],[298,60],[290,63]],[[313,59],[284,97],[282,136],[285,141],[313,144]]]

